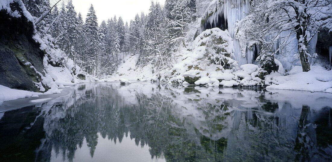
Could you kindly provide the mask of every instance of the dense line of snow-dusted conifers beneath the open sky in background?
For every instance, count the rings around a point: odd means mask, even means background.
[[[97,77],[115,72],[125,53],[139,54],[137,66],[170,65],[172,52],[186,46],[185,32],[197,17],[195,0],[167,0],[165,7],[152,1],[149,13],[137,14],[129,24],[114,16],[100,25],[92,4],[83,20],[72,0],[54,6],[49,0],[24,3],[36,18],[49,11],[36,24],[38,33],[49,35],[55,48],[63,50],[75,65]]]

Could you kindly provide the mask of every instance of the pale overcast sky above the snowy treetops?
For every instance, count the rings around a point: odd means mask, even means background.
[[[86,14],[93,4],[98,23],[103,20],[107,21],[109,18],[113,18],[114,15],[119,18],[120,16],[124,20],[124,23],[135,18],[135,15],[143,11],[144,14],[149,12],[151,6],[151,0],[72,0],[77,14],[80,12],[85,20]],[[158,1],[160,5],[164,5],[165,0],[153,0]],[[67,1],[68,2],[68,1]]]

